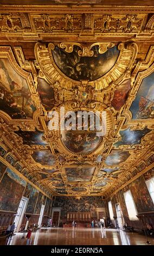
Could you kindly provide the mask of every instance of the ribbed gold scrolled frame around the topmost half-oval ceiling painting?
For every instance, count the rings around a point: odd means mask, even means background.
[[[65,74],[63,74],[60,69],[56,66],[53,56],[52,56],[52,50],[55,48],[54,43],[49,43],[48,47],[46,44],[41,44],[40,42],[36,43],[35,45],[35,57],[37,60],[37,63],[40,67],[41,72],[43,72],[44,76],[47,77],[48,81],[54,86],[62,87],[63,89],[71,90],[73,89],[73,86],[81,86],[80,81],[74,81],[71,78],[67,77]],[[74,45],[76,45],[75,42],[72,43],[65,43],[62,42],[61,44],[63,47],[66,45],[67,48],[72,48]],[[110,45],[114,45],[111,42],[103,43],[103,42],[97,42],[95,44],[88,45],[88,50],[86,44],[78,44],[80,47],[82,47],[83,53],[91,52],[91,48],[93,45],[99,45],[100,51],[106,51],[107,47]],[[85,47],[85,50],[84,50]],[[113,46],[112,46],[113,47]],[[101,50],[103,49],[103,50]],[[104,50],[105,49],[105,50]],[[118,50],[120,50],[118,59],[116,64],[114,64],[113,68],[108,71],[104,76],[101,78],[98,78],[97,80],[88,82],[88,84],[95,88],[96,91],[102,90],[102,89],[111,89],[115,87],[121,80],[124,79],[124,77],[127,75],[127,72],[130,72],[134,60],[137,56],[137,44],[135,42],[127,42],[126,44],[120,43],[118,45]],[[87,53],[89,54],[89,53]],[[114,84],[113,84],[114,83]]]

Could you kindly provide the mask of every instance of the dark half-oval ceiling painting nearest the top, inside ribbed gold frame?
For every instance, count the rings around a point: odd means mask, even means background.
[[[68,53],[65,49],[55,46],[52,51],[57,67],[63,74],[75,81],[97,80],[114,66],[119,55],[117,46],[109,48],[102,54],[99,53],[99,46],[93,46],[92,57],[79,56],[80,50],[79,46],[74,46],[73,52]]]

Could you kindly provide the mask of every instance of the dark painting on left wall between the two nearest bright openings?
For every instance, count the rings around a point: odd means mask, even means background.
[[[38,196],[39,196],[39,191],[33,187],[30,193],[27,209],[25,210],[27,214],[34,214],[35,205],[36,205]]]

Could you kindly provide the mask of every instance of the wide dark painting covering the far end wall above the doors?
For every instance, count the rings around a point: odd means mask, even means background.
[[[101,197],[56,197],[53,207],[61,207],[61,216],[67,217],[67,212],[91,212],[96,216],[97,208],[106,207]]]

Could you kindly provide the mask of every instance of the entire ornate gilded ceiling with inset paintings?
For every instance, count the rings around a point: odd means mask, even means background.
[[[59,7],[0,7],[0,143],[52,194],[106,196],[153,164],[154,8]],[[61,107],[106,134],[50,130]]]

